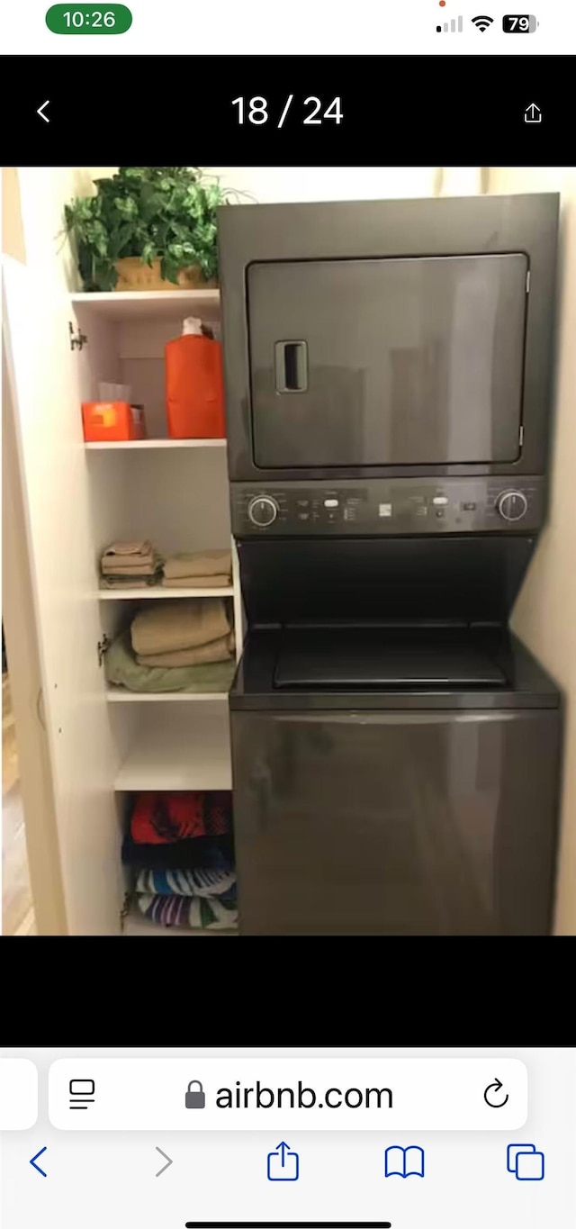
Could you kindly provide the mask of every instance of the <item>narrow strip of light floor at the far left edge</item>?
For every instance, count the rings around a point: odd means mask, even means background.
[[[36,934],[10,678],[2,675],[2,935]]]

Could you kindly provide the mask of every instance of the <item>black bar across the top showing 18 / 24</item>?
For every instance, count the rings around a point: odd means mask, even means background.
[[[4,165],[561,166],[572,74],[567,55],[0,57],[0,147]]]

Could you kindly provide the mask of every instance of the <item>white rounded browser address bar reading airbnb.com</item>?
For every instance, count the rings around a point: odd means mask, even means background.
[[[499,1131],[528,1116],[512,1058],[58,1059],[63,1131]]]

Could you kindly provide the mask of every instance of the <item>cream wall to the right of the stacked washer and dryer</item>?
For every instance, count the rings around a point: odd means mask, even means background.
[[[551,501],[512,626],[566,696],[556,933],[576,934],[576,168],[491,167],[489,190],[560,192]]]

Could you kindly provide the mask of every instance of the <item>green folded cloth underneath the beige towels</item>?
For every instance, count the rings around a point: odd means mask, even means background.
[[[199,666],[141,666],[134,656],[130,629],[122,632],[104,654],[107,682],[135,692],[228,692],[235,661]]]

